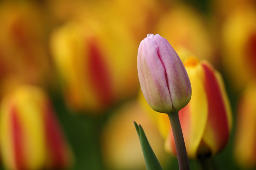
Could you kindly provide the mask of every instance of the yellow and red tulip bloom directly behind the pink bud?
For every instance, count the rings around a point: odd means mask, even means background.
[[[193,91],[190,102],[179,112],[188,157],[214,155],[226,146],[232,127],[231,108],[223,80],[206,61],[199,62],[191,57],[184,66]],[[169,126],[166,124],[165,127]],[[165,147],[172,154],[176,153],[172,131]]]

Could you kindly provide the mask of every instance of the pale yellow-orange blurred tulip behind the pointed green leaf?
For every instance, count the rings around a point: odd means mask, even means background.
[[[143,126],[156,157],[164,165],[167,158],[164,141],[146,112],[137,101],[132,101],[118,109],[104,127],[102,150],[107,167],[113,170],[146,168],[133,121],[140,122]]]

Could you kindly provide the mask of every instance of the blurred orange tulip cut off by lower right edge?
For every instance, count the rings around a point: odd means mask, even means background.
[[[256,83],[251,82],[238,101],[234,155],[244,167],[256,167]]]

